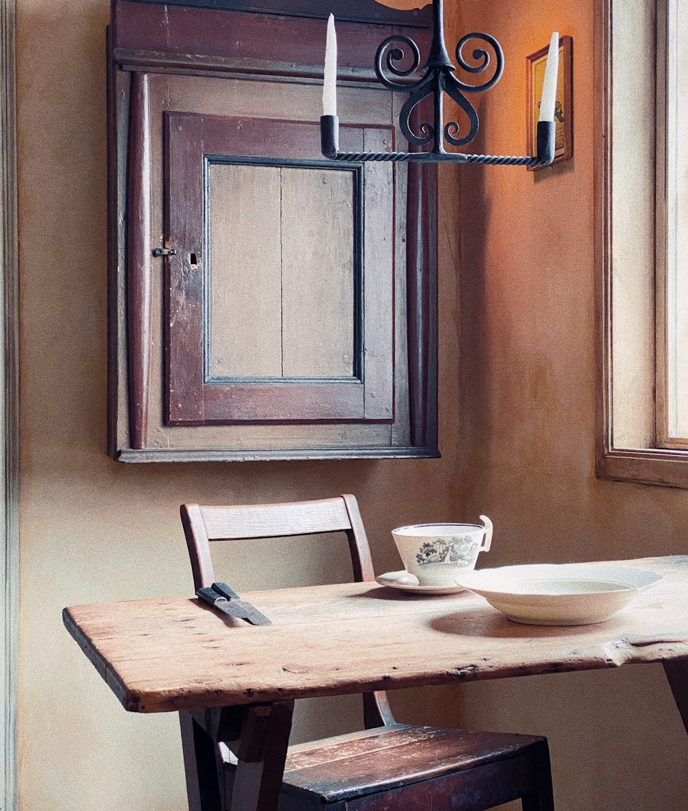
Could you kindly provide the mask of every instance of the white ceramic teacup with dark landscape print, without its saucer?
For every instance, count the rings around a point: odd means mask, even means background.
[[[475,569],[481,551],[492,543],[492,521],[479,524],[412,524],[392,530],[406,571],[420,586],[453,586],[454,577]]]

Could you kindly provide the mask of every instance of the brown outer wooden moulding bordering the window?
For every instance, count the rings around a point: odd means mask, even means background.
[[[595,41],[595,254],[596,254],[596,474],[598,478],[688,488],[688,451],[614,444],[613,390],[613,5],[596,0]],[[663,6],[662,2],[657,4]],[[660,13],[659,24],[662,24]],[[660,59],[665,54],[659,55]],[[618,71],[617,71],[618,75]],[[662,94],[657,100],[662,103]],[[660,117],[658,117],[658,130]],[[658,138],[662,148],[664,135]],[[653,274],[656,268],[652,268]],[[654,281],[654,280],[653,280]],[[652,285],[652,290],[655,290]],[[655,351],[653,347],[653,351]],[[653,381],[654,382],[654,381]],[[656,413],[656,384],[648,414]],[[653,437],[654,440],[654,437]],[[648,443],[649,444],[649,443]],[[656,444],[654,441],[651,444]]]

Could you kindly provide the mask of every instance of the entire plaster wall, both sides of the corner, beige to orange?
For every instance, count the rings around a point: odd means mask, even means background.
[[[522,151],[525,54],[553,28],[574,36],[576,154],[540,174],[443,167],[443,459],[123,466],[104,450],[109,4],[17,0],[23,811],[184,809],[176,719],[124,713],[60,619],[69,604],[187,594],[183,500],[354,492],[376,571],[397,568],[392,526],[479,512],[495,521],[491,564],[686,552],[685,491],[594,476],[591,2],[476,0],[461,25],[447,5],[448,38],[484,29],[505,46],[484,109],[491,151]],[[348,576],[344,554],[305,543],[273,548],[267,567],[258,554],[223,560],[237,588]],[[471,684],[466,697],[471,726],[548,735],[560,811],[685,808],[688,744],[660,668]],[[452,723],[461,706],[454,690],[392,698],[402,719]],[[333,730],[349,727],[352,701],[332,713]],[[296,736],[325,732],[306,707]]]

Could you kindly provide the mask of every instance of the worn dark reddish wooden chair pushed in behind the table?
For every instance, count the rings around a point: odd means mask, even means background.
[[[181,513],[196,588],[216,579],[209,541],[342,531],[355,581],[374,581],[354,496],[256,506],[184,504]],[[396,723],[381,692],[363,695],[363,720],[364,732],[290,747],[280,811],[483,811],[518,799],[524,811],[553,811],[544,738]],[[192,730],[184,721],[183,735],[189,779]],[[197,768],[213,769],[216,756],[231,783],[233,766],[222,744],[210,753],[212,763]],[[195,781],[197,792],[194,772]],[[232,808],[241,807],[234,800]]]

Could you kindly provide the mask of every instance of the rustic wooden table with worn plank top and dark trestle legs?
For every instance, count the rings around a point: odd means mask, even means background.
[[[618,562],[664,579],[612,620],[578,627],[514,624],[467,592],[419,598],[371,583],[242,595],[266,626],[196,598],[76,606],[64,622],[125,709],[194,719],[210,742],[196,740],[199,759],[214,757],[213,740],[239,741],[237,774],[250,779],[235,783],[231,808],[271,809],[297,698],[661,662],[688,732],[688,556]],[[199,786],[198,809],[212,807],[211,789]]]

